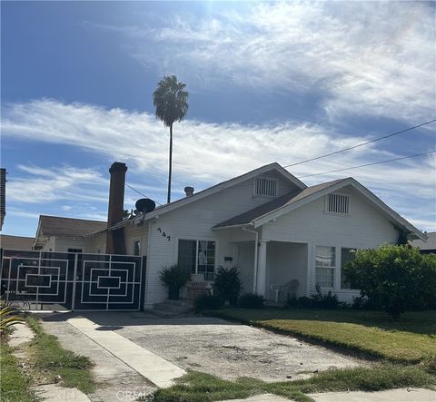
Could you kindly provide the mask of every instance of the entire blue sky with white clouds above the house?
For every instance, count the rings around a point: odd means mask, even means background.
[[[152,93],[190,93],[174,127],[173,199],[435,118],[430,2],[2,2],[1,165],[6,234],[39,214],[104,220],[108,168],[165,201],[168,133]],[[435,149],[430,124],[290,168],[296,176]],[[436,230],[434,154],[315,176],[352,176]],[[125,208],[140,198],[129,189]]]

